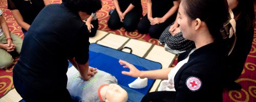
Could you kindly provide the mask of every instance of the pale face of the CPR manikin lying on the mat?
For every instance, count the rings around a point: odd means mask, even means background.
[[[127,100],[127,92],[117,84],[110,84],[105,94],[106,102],[122,102]]]

